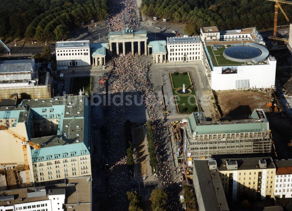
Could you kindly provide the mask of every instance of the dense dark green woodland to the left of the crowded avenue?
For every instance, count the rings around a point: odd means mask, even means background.
[[[59,40],[81,22],[107,17],[107,0],[2,0],[0,37]]]

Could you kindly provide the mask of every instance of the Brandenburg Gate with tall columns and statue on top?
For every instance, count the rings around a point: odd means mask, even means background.
[[[120,54],[120,44],[122,44],[123,54],[126,55],[126,45],[130,47],[131,43],[131,52],[134,55],[135,49],[138,46],[138,54],[141,55],[141,42],[144,42],[144,54],[147,55],[147,31],[133,31],[126,27],[124,31],[110,31],[109,32],[109,53],[110,55],[114,52],[115,45],[115,52],[117,55]],[[143,45],[143,44],[142,44]]]

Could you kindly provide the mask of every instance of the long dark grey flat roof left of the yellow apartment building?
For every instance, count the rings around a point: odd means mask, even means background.
[[[194,160],[205,210],[229,210],[218,171],[209,170],[208,161]],[[220,206],[219,206],[220,205]]]

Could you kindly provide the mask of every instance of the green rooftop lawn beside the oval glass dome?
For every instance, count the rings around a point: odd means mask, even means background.
[[[231,45],[227,45],[227,47],[230,47],[230,46]],[[214,66],[245,64],[245,62],[230,61],[228,59],[225,59],[225,57],[223,56],[223,52],[226,49],[224,45],[221,48],[218,48],[218,50],[213,50],[213,47],[211,45],[208,45],[207,48],[210,53]]]

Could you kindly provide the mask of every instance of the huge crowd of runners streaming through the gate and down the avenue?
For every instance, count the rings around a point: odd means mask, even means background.
[[[136,17],[135,0],[113,0],[110,6],[110,15],[107,20],[109,31],[122,31],[126,24],[130,29],[138,28],[138,19]],[[126,16],[126,18],[125,18]],[[125,22],[126,20],[126,22]],[[157,159],[156,177],[158,186],[166,190],[169,197],[173,197],[173,187],[175,180],[173,175],[177,174],[172,169],[172,159],[167,147],[170,141],[170,134],[167,126],[164,126],[164,108],[159,103],[157,93],[150,83],[149,63],[146,58],[136,53],[131,54],[131,48],[126,46],[126,55],[114,56],[111,61],[111,71],[107,80],[107,102],[104,106],[104,116],[107,125],[107,140],[105,143],[107,155],[107,191],[111,197],[112,210],[127,210],[128,202],[126,192],[131,191],[130,178],[133,176],[133,169],[126,164],[126,142],[124,135],[124,126],[126,116],[131,113],[131,106],[125,99],[127,94],[133,98],[143,101],[147,110],[148,118],[152,123],[154,132],[155,154]],[[106,90],[105,90],[106,92]],[[121,95],[121,93],[124,93]],[[120,97],[116,98],[116,95]],[[123,97],[121,97],[123,96]],[[134,102],[132,98],[132,101]],[[109,103],[110,102],[110,103]],[[140,101],[138,101],[140,102]],[[110,106],[109,106],[110,105]],[[131,172],[132,171],[132,172]],[[170,200],[167,204],[167,210],[177,210],[178,202]]]

